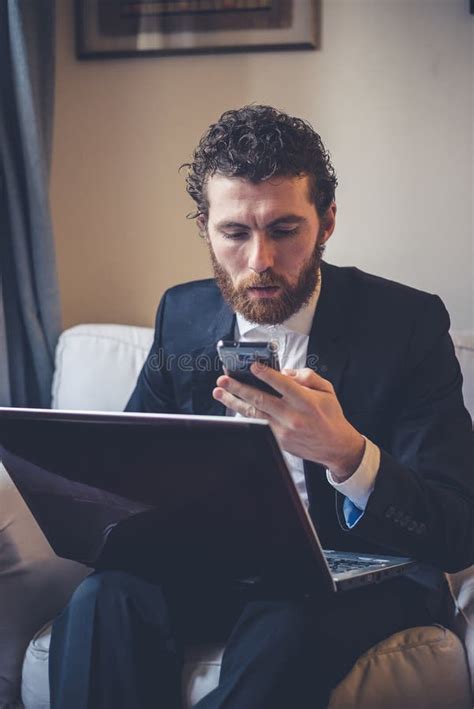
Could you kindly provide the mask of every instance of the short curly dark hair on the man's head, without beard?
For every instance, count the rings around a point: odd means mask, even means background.
[[[219,173],[262,182],[273,176],[308,175],[310,198],[326,214],[337,187],[329,153],[309,123],[271,106],[226,111],[209,126],[187,167],[186,189],[197,205],[190,218],[207,217],[206,184]]]

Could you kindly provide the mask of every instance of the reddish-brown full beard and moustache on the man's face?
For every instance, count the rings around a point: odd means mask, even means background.
[[[254,273],[234,286],[230,275],[217,261],[209,242],[208,244],[214,277],[225,301],[234,312],[258,325],[279,325],[288,320],[309,303],[319,283],[319,268],[324,253],[324,245],[319,243],[319,234],[314,251],[303,264],[294,285],[291,285],[285,276],[268,269],[263,273]],[[272,286],[278,286],[280,291],[271,298],[255,299],[248,293],[249,288]]]

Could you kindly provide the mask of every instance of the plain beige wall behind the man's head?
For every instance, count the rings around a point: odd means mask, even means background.
[[[177,172],[222,111],[310,120],[336,165],[334,263],[438,292],[473,327],[468,0],[323,0],[319,51],[78,62],[58,3],[51,200],[64,324],[152,324],[210,274]]]

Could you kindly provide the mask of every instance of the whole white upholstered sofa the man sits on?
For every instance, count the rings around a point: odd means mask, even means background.
[[[123,409],[152,334],[148,328],[121,325],[79,325],[64,332],[56,353],[52,406]],[[472,415],[474,338],[460,333],[455,343]],[[5,470],[0,470],[1,709],[48,709],[49,621],[87,573],[85,567],[53,554]],[[360,658],[334,690],[331,709],[472,707],[474,567],[450,581],[458,605],[458,635],[438,626],[397,633]],[[222,648],[216,647],[189,650],[183,678],[186,706],[217,683],[221,655]],[[20,681],[23,704],[15,700]]]

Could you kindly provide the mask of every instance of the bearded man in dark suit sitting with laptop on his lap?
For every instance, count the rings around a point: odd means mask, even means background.
[[[322,261],[336,177],[305,122],[266,106],[226,112],[187,187],[215,280],[164,295],[128,410],[267,419],[323,546],[406,554],[425,571],[323,604],[94,574],[55,623],[52,706],[179,707],[184,643],[219,637],[220,683],[200,709],[317,709],[375,643],[449,624],[442,571],[474,560],[471,421],[449,318],[436,296]],[[284,371],[254,373],[281,398],[179,367],[180,355],[215,362],[229,337],[278,340]]]

